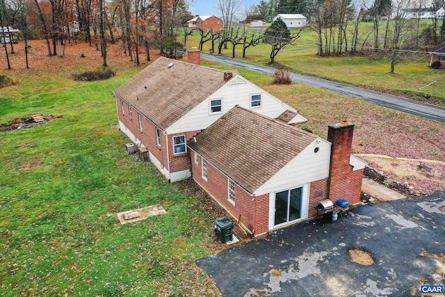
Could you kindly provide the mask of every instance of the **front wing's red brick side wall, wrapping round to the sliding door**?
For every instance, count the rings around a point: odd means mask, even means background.
[[[252,195],[235,184],[235,204],[228,200],[229,179],[226,175],[207,162],[207,181],[202,178],[202,158],[198,156],[195,163],[195,152],[191,151],[192,177],[204,188],[213,199],[221,204],[231,214],[232,220],[240,220],[254,234],[268,231],[269,195],[261,195],[252,201]]]

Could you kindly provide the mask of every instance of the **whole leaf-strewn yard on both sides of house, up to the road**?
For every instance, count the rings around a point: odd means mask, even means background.
[[[44,125],[0,132],[0,296],[218,296],[194,261],[223,248],[211,232],[223,212],[193,184],[170,185],[150,163],[127,155],[113,90],[144,65],[136,67],[119,45],[108,49],[117,75],[99,82],[70,79],[100,67],[95,47],[67,45],[59,58],[45,56],[42,41],[31,42],[31,70],[22,43],[13,70],[5,70],[0,53],[1,74],[18,82],[0,89],[0,125],[54,115]],[[328,124],[346,119],[356,125],[355,152],[426,159],[435,170],[430,177],[417,168],[400,175],[394,159],[385,161],[394,169],[385,171],[388,179],[419,193],[443,189],[445,125],[239,71],[300,110],[309,119],[302,128],[326,137]],[[378,158],[363,158],[383,168]],[[118,212],[157,203],[167,214],[120,225]]]

